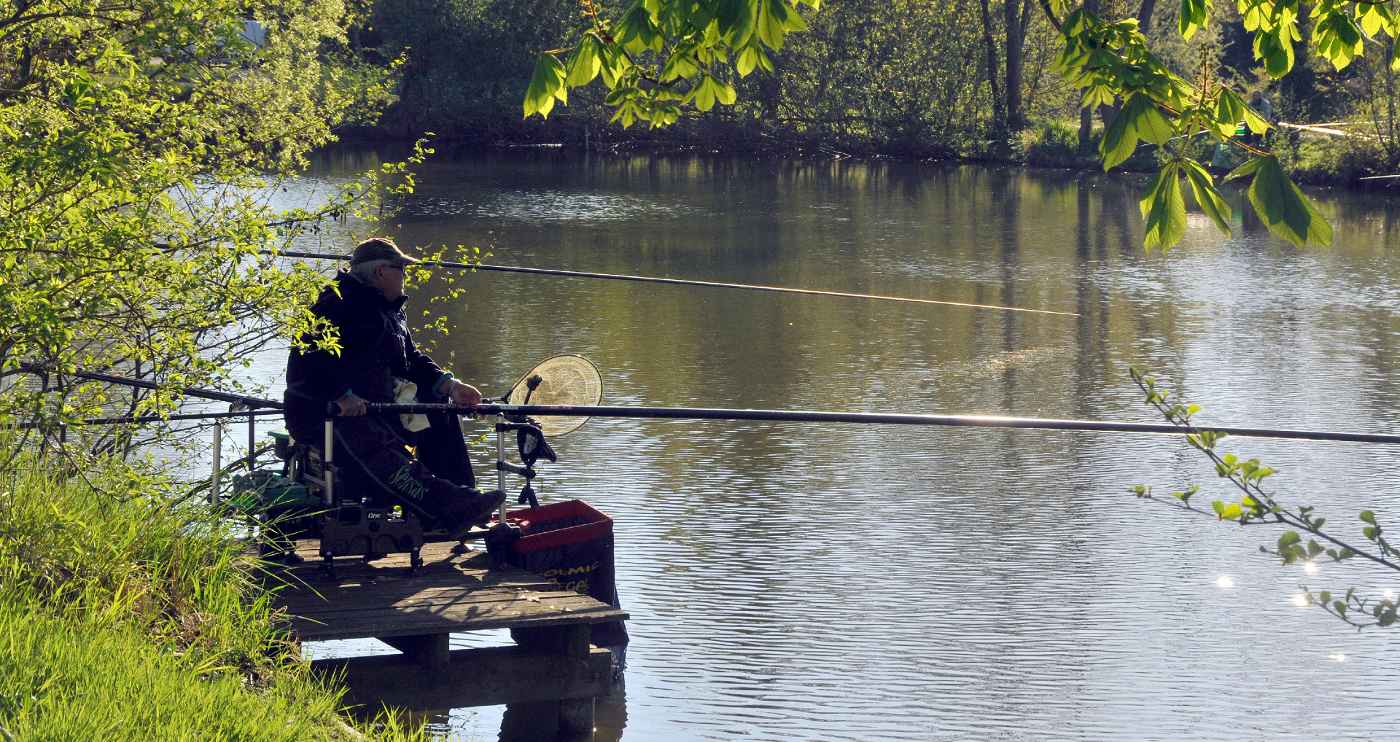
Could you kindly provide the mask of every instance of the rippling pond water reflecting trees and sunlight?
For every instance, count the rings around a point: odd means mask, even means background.
[[[375,161],[329,157],[288,197]],[[1163,256],[1141,248],[1144,190],[932,164],[441,155],[382,230],[493,263],[1075,314],[479,273],[437,356],[489,396],[578,353],[612,405],[1154,423],[1137,364],[1208,424],[1400,427],[1394,197],[1317,193],[1330,249],[1193,216]],[[274,379],[281,360],[259,368]],[[1225,445],[1357,540],[1358,511],[1400,512],[1393,447]],[[1135,500],[1137,483],[1233,497],[1176,438],[595,419],[554,448],[540,494],[616,519],[631,613],[598,739],[1371,739],[1400,722],[1396,630],[1291,603],[1302,584],[1380,595],[1400,575],[1285,568],[1257,550],[1271,526]],[[508,638],[454,638],[480,641]],[[472,739],[500,722],[433,721]]]

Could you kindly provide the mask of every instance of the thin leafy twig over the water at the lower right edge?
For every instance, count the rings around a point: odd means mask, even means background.
[[[1235,454],[1219,452],[1217,444],[1225,438],[1225,434],[1203,430],[1193,423],[1193,416],[1200,412],[1200,406],[1170,402],[1170,393],[1158,386],[1156,379],[1137,368],[1131,368],[1130,374],[1133,381],[1147,395],[1147,403],[1162,413],[1169,423],[1180,427],[1186,433],[1186,440],[1191,448],[1205,454],[1215,465],[1215,475],[1229,482],[1242,493],[1239,501],[1212,501],[1208,511],[1191,504],[1191,497],[1200,491],[1197,484],[1191,484],[1184,491],[1172,493],[1170,500],[1156,498],[1152,494],[1152,489],[1147,484],[1134,484],[1128,490],[1134,496],[1144,500],[1156,500],[1173,508],[1212,517],[1218,521],[1232,521],[1239,525],[1261,522],[1281,525],[1287,531],[1278,536],[1273,549],[1260,546],[1259,550],[1274,554],[1285,566],[1299,563],[1313,564],[1324,556],[1338,563],[1361,557],[1380,567],[1400,571],[1400,549],[1386,540],[1385,529],[1380,526],[1373,511],[1365,510],[1359,515],[1361,522],[1365,524],[1361,535],[1371,542],[1371,546],[1359,547],[1348,543],[1344,536],[1324,529],[1327,519],[1315,515],[1315,510],[1310,505],[1288,507],[1278,501],[1273,493],[1264,490],[1264,479],[1273,476],[1274,469],[1264,466],[1259,459],[1240,459]],[[1305,542],[1303,533],[1315,538],[1309,538]],[[1306,587],[1303,587],[1303,595],[1308,605],[1319,606],[1358,629],[1366,626],[1385,627],[1396,622],[1397,603],[1394,598],[1376,601],[1361,595],[1355,588],[1348,589],[1340,599],[1333,599],[1327,591],[1315,594]],[[1369,615],[1369,619],[1359,617],[1366,615]]]

